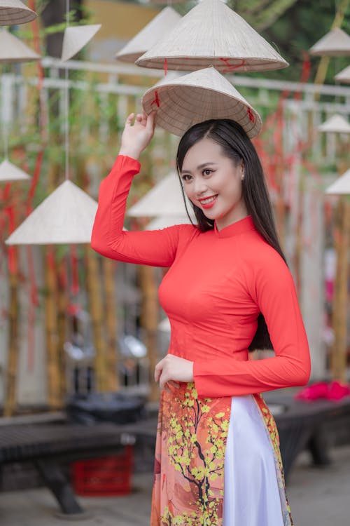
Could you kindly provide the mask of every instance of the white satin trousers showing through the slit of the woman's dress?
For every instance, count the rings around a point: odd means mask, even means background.
[[[274,452],[251,395],[232,398],[223,526],[283,526]]]

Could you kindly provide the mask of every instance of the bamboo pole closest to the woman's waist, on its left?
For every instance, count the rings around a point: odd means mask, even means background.
[[[153,267],[140,265],[139,283],[142,293],[141,325],[146,332],[146,347],[150,367],[150,393],[149,400],[155,402],[159,399],[158,385],[154,381],[154,369],[158,362],[157,355],[157,330],[158,330],[158,293],[155,283]]]

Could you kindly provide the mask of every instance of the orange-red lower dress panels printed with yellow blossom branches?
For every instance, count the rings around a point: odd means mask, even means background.
[[[284,481],[276,424],[262,398],[254,398],[274,450],[282,501]],[[162,391],[151,526],[222,526],[230,411],[230,397],[198,398],[193,382]],[[288,501],[285,495],[283,498],[284,526],[293,526]]]

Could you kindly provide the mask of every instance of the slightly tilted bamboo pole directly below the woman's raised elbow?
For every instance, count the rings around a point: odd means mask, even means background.
[[[85,248],[86,283],[89,297],[89,311],[94,342],[94,384],[99,392],[109,389],[108,359],[106,340],[104,338],[104,309],[102,306],[101,290],[99,288],[99,265],[97,255],[90,246]]]

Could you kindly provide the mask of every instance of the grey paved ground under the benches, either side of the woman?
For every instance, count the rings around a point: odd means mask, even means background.
[[[350,447],[332,451],[333,464],[310,468],[302,454],[288,483],[288,496],[295,526],[349,526]],[[148,526],[152,474],[134,477],[134,491],[127,497],[83,498],[80,504],[90,518],[81,526]],[[27,490],[0,494],[1,526],[63,526],[57,506],[48,490]],[[241,525],[244,526],[244,525]]]

